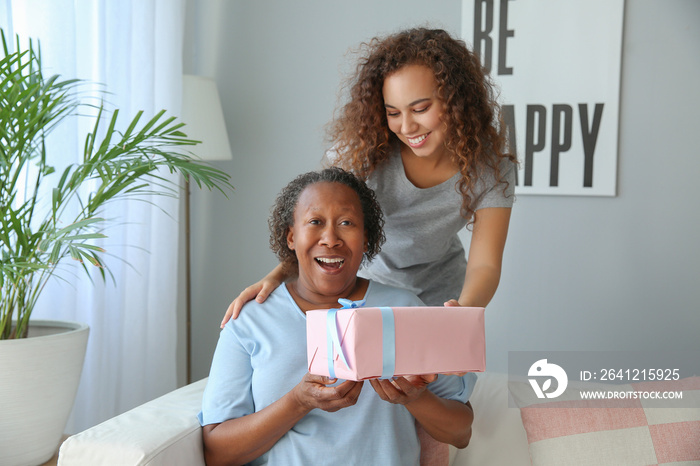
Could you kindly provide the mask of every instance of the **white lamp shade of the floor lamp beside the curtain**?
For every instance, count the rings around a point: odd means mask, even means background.
[[[202,141],[193,152],[202,160],[231,160],[231,146],[221,109],[219,91],[211,78],[190,74],[182,77],[183,131]]]

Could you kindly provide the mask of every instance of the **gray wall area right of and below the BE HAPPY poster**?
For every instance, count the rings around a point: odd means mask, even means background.
[[[618,196],[518,200],[498,347],[700,350],[700,2],[626,3]]]

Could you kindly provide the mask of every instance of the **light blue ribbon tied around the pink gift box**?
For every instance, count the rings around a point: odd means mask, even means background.
[[[356,309],[365,305],[365,300],[351,301],[340,298],[338,302],[343,306],[340,309]],[[333,348],[337,348],[345,367],[350,369],[345,353],[340,345],[340,334],[336,314],[340,309],[329,309],[326,314],[326,348],[328,351],[328,376],[335,378],[335,367],[333,364]],[[394,311],[390,307],[380,307],[382,313],[382,379],[388,379],[394,375],[396,368],[396,326],[394,324]]]

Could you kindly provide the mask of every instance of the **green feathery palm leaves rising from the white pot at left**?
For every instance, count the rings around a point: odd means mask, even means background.
[[[99,216],[105,205],[143,194],[175,195],[178,185],[161,170],[224,195],[233,186],[228,174],[185,149],[194,150],[199,141],[189,139],[174,116],[163,110],[144,121],[138,112],[119,132],[118,110],[81,101],[82,81],[45,77],[31,41],[23,49],[17,37],[12,51],[1,29],[0,38],[0,339],[5,339],[26,334],[41,290],[64,259],[77,261],[88,276],[93,269],[103,280],[110,274],[103,260],[107,252],[95,244],[108,236]],[[84,113],[93,115],[94,124],[85,135],[81,163],[54,173],[46,138]],[[20,189],[26,180],[29,185]],[[38,204],[40,188],[50,192],[48,206]]]

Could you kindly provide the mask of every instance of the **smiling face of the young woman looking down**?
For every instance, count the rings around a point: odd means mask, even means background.
[[[389,129],[418,157],[446,154],[443,103],[437,98],[433,72],[406,65],[390,74],[382,88]]]

